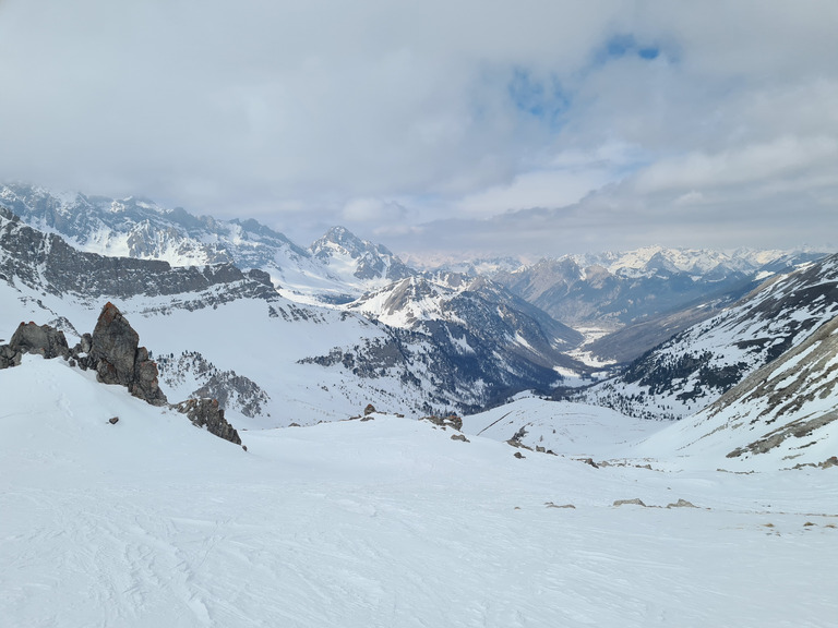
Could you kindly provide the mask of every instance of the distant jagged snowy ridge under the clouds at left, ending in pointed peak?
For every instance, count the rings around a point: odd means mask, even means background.
[[[144,198],[56,194],[20,183],[0,185],[0,206],[84,252],[175,267],[234,264],[242,270],[261,269],[295,300],[351,301],[409,273],[385,249],[338,228],[308,250],[253,219],[216,220]]]

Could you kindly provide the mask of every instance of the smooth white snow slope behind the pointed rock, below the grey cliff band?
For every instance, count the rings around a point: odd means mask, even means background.
[[[399,363],[392,373],[370,378],[311,362],[335,347],[390,340],[386,330],[357,315],[300,306],[279,295],[272,301],[225,301],[224,297],[220,287],[176,295],[110,298],[137,330],[141,343],[161,359],[160,386],[170,400],[185,399],[207,383],[214,373],[196,363],[204,362],[258,387],[244,398],[231,394],[227,410],[237,427],[340,420],[359,414],[368,403],[408,415],[456,408],[459,396],[430,386],[419,363]],[[58,326],[73,345],[81,334],[93,330],[103,301],[41,294],[0,281],[0,338],[8,340],[21,321],[34,321]],[[199,361],[180,360],[194,352]],[[259,412],[243,415],[242,406],[253,399],[261,400]]]

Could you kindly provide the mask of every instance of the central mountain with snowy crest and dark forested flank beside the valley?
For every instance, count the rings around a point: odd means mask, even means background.
[[[429,394],[447,382],[460,409],[522,389],[550,390],[562,373],[588,371],[565,353],[582,341],[577,331],[483,278],[414,276],[346,307],[385,329],[386,340],[335,348],[316,363],[371,378],[397,364],[421,365]]]

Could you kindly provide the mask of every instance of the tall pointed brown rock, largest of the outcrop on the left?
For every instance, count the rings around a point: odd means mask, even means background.
[[[91,339],[88,364],[104,384],[125,386],[131,395],[164,406],[166,395],[157,382],[157,365],[148,350],[140,347],[140,336],[111,302],[105,304]]]

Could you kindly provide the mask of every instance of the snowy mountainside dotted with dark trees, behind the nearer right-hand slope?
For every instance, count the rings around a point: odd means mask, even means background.
[[[838,255],[833,255],[768,279],[576,399],[634,416],[682,418],[803,342],[836,314]]]

